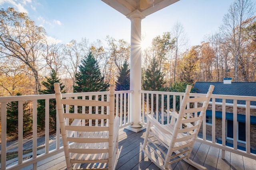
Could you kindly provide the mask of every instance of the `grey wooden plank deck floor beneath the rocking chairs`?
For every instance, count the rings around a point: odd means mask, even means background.
[[[146,129],[134,133],[127,129],[120,129],[117,170],[159,170],[140,149]],[[208,170],[256,170],[256,160],[225,152],[225,160],[221,159],[222,151],[209,145],[196,142],[192,151],[191,159],[205,166]],[[194,170],[183,160],[172,164],[174,170]],[[32,169],[31,167],[23,170]],[[64,153],[56,154],[48,159],[38,162],[38,170],[65,170],[66,162]]]

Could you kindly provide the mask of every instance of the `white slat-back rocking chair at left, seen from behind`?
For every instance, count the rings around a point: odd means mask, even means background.
[[[110,85],[109,102],[62,99],[60,84],[54,83],[58,119],[68,170],[80,169],[82,163],[86,163],[84,169],[115,169],[118,157],[120,119],[114,117],[114,89],[114,85]],[[98,108],[103,109],[105,113],[64,113],[63,105],[66,105],[66,110],[69,106],[101,106]],[[101,120],[101,125],[86,126],[83,123],[84,120]]]

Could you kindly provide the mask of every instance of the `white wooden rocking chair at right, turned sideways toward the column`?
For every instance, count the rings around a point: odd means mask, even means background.
[[[143,145],[140,148],[160,169],[171,169],[170,164],[184,160],[198,169],[207,170],[204,166],[189,159],[198,131],[206,113],[214,86],[211,85],[206,97],[190,98],[192,86],[188,85],[179,113],[172,112],[171,123],[162,125],[152,115],[147,115],[147,129]],[[189,108],[190,104],[203,102],[202,107]],[[197,113],[200,111],[200,115]],[[189,114],[196,116],[188,118]],[[187,117],[187,118],[186,118]],[[164,146],[164,152],[159,146]]]

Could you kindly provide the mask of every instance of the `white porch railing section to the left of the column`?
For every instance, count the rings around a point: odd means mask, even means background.
[[[132,91],[116,91],[116,110],[115,114],[120,117],[120,127],[125,127],[130,125],[130,93]],[[62,94],[64,98],[79,98],[83,99],[95,99],[106,100],[106,95],[109,92],[86,92],[86,93],[72,93],[72,94]],[[31,95],[31,96],[8,96],[0,97],[1,106],[1,170],[14,170],[21,169],[29,165],[33,165],[33,169],[36,169],[37,162],[44,160],[50,156],[53,156],[59,152],[63,151],[62,140],[60,135],[60,127],[56,123],[56,134],[50,135],[49,128],[49,100],[54,99],[54,94],[46,95]],[[37,137],[37,100],[45,100],[45,136]],[[32,121],[33,121],[33,135],[31,140],[23,139],[23,103],[30,101],[32,110]],[[12,143],[12,146],[7,145],[6,142],[6,111],[8,102],[18,102],[18,140]],[[69,108],[69,107],[66,107]],[[82,108],[85,112],[85,108]],[[78,108],[74,108],[74,112],[77,112]],[[96,113],[98,110],[96,107]],[[69,111],[69,109],[66,109]],[[92,113],[92,107],[89,108],[89,112]],[[122,114],[120,114],[122,113]],[[98,113],[100,114],[100,113]],[[57,114],[58,115],[58,114]],[[52,137],[54,136],[54,137]],[[43,143],[43,144],[42,144]],[[27,145],[30,145],[27,147]],[[39,146],[40,145],[40,146]],[[26,149],[25,149],[26,148]],[[29,154],[24,154],[25,150],[32,150]],[[7,154],[11,152],[18,152],[16,158],[11,158],[6,160]]]

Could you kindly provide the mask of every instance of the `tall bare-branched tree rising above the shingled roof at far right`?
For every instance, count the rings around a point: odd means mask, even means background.
[[[222,31],[226,35],[226,45],[234,57],[234,79],[238,81],[238,69],[242,73],[242,80],[248,81],[246,77],[246,66],[243,62],[244,35],[243,28],[247,26],[246,21],[254,15],[255,3],[250,0],[235,0],[230,6],[228,14],[223,18]]]

